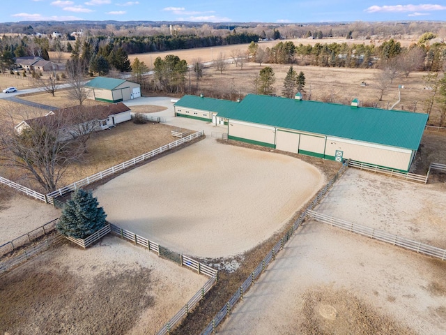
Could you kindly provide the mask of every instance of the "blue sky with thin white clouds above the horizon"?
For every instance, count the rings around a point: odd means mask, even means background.
[[[2,0],[0,22],[147,20],[192,22],[445,21],[446,1],[403,0]]]

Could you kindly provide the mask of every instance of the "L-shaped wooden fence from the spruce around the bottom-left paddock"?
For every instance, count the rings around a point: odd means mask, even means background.
[[[173,318],[169,320],[158,332],[157,335],[164,335],[171,332],[180,322],[185,318],[192,309],[204,298],[207,292],[213,287],[215,283],[217,283],[218,271],[213,269],[212,267],[208,267],[193,258],[187,257],[180,253],[175,253],[174,251],[169,251],[169,249],[160,246],[160,244],[155,243],[154,241],[150,241],[145,237],[141,237],[129,230],[125,230],[123,228],[119,228],[116,225],[111,224],[112,232],[118,234],[123,239],[128,239],[132,241],[134,244],[139,244],[140,246],[144,246],[149,251],[153,251],[157,253],[158,256],[163,258],[168,258],[169,260],[173,260],[178,263],[178,265],[182,267],[188,267],[192,269],[192,271],[196,271],[197,274],[204,274],[209,276],[209,280],[203,285],[203,287],[189,300],[187,304],[183,306],[178,313],[174,315]]]

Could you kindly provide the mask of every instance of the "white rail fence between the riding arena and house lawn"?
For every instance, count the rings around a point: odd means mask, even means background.
[[[180,138],[180,140],[176,140],[175,142],[171,142],[169,144],[163,145],[162,147],[152,150],[150,152],[147,152],[146,154],[142,154],[141,156],[132,158],[129,161],[125,161],[121,164],[114,165],[114,166],[112,166],[112,168],[108,168],[107,170],[98,172],[96,174],[93,174],[90,177],[86,177],[86,178],[76,181],[75,183],[72,183],[68,186],[59,188],[59,190],[48,193],[47,200],[49,203],[54,204],[53,198],[56,198],[56,197],[66,194],[66,193],[75,191],[77,188],[82,188],[82,186],[92,184],[95,181],[98,181],[98,180],[108,177],[112,174],[115,174],[116,172],[119,172],[121,170],[129,168],[130,166],[136,165],[137,163],[141,163],[142,161],[146,161],[149,158],[153,158],[159,154],[162,154],[163,152],[169,151],[170,149],[179,147],[181,144],[190,142],[190,141],[194,140],[195,138],[198,138],[203,135],[204,135],[204,131],[198,131],[197,133],[193,133],[186,137]]]

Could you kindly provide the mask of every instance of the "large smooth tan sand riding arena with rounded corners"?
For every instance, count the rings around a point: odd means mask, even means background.
[[[206,138],[95,189],[107,220],[173,251],[243,253],[280,230],[324,177],[299,159]]]

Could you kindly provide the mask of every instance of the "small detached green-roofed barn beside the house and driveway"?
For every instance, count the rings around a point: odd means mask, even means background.
[[[141,85],[124,79],[95,77],[85,85],[89,98],[106,103],[121,103],[141,96]]]

